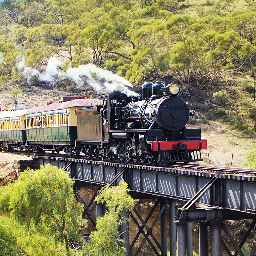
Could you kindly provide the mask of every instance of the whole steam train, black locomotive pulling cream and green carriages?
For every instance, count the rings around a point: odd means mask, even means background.
[[[141,163],[202,161],[200,150],[207,148],[207,141],[201,140],[201,129],[187,129],[195,112],[177,96],[179,90],[172,76],[165,76],[164,84],[144,83],[142,95],[111,92],[99,99],[71,97],[41,107],[2,111],[0,149],[40,154],[64,150],[68,155]]]

